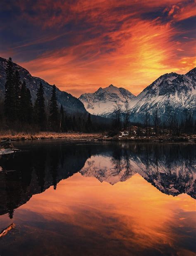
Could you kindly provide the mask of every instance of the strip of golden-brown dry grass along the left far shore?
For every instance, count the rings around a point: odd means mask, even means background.
[[[17,133],[13,131],[0,132],[0,140],[38,140],[38,139],[97,139],[103,137],[102,133]]]

